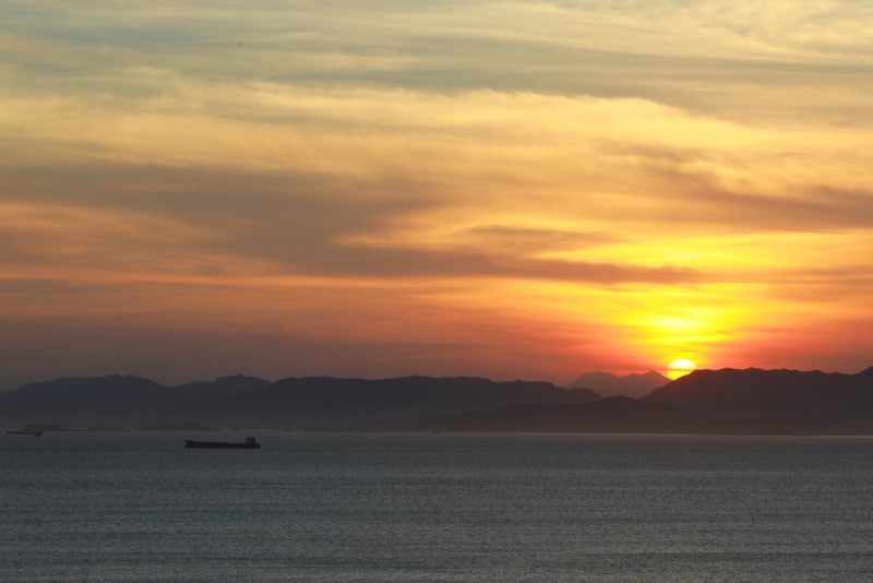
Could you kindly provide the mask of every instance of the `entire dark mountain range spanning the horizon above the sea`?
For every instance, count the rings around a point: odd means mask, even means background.
[[[120,374],[65,378],[0,393],[0,424],[177,431],[873,433],[873,367],[857,374],[697,370],[675,381],[656,374],[631,376],[633,383],[665,381],[638,398],[576,386],[585,376],[570,388],[475,377],[271,382],[236,376],[177,386]],[[607,373],[588,378],[622,382]]]

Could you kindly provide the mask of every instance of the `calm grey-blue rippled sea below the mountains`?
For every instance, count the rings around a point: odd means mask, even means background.
[[[871,438],[256,435],[0,436],[0,581],[873,573]]]

